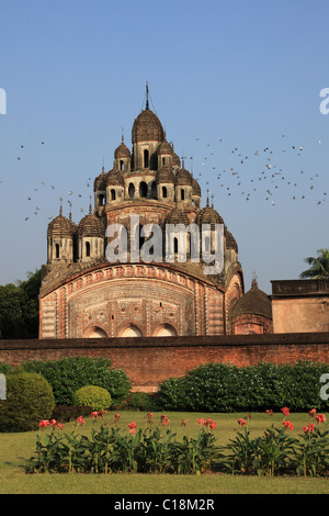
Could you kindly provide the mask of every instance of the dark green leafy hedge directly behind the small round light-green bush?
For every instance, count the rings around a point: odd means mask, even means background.
[[[53,386],[56,405],[72,405],[73,394],[86,385],[97,385],[110,392],[114,406],[131,390],[131,381],[120,369],[110,369],[105,358],[70,357],[59,360],[30,360],[23,363],[27,371],[38,372]]]

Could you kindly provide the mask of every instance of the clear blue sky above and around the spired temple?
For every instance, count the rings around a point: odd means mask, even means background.
[[[298,278],[329,247],[328,20],[325,0],[1,0],[0,283],[46,262],[60,197],[75,222],[88,212],[146,81],[238,243],[246,290]]]

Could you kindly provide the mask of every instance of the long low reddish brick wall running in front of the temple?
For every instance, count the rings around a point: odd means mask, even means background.
[[[162,380],[208,362],[242,367],[309,360],[328,363],[329,372],[329,333],[0,340],[0,361],[8,363],[76,356],[111,358],[131,378],[133,390],[156,391]]]

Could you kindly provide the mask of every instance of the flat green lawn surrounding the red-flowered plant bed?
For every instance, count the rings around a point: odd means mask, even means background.
[[[160,413],[154,414],[154,424],[160,420]],[[166,413],[177,438],[183,435],[196,436],[200,426],[198,417],[212,417],[217,423],[213,430],[218,445],[225,445],[236,436],[239,429],[237,420],[245,414],[194,414]],[[328,415],[326,415],[328,419]],[[114,412],[104,417],[104,423],[112,423]],[[182,419],[188,419],[182,427]],[[273,423],[281,427],[282,414],[273,415]],[[298,436],[303,426],[309,422],[308,414],[291,414],[288,419],[294,424],[292,435]],[[138,427],[146,425],[145,412],[121,413],[120,427],[127,429],[128,423],[135,420]],[[98,423],[95,423],[98,424]],[[261,435],[270,427],[272,419],[266,414],[252,413],[249,428],[252,436]],[[70,429],[72,423],[66,424]],[[92,428],[92,420],[87,419],[81,431]],[[42,430],[42,431],[48,431]],[[26,460],[35,451],[38,431],[20,434],[0,434],[0,494],[329,494],[328,478],[304,479],[298,476],[243,476],[223,473],[204,475],[170,474],[26,474]]]

